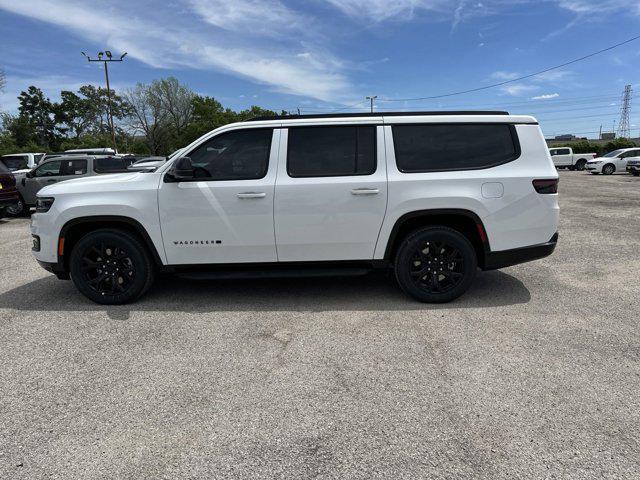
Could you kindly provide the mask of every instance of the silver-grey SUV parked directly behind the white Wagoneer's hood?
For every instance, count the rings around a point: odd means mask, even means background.
[[[18,179],[20,197],[18,203],[7,212],[10,215],[21,215],[34,207],[36,194],[47,185],[74,178],[126,171],[126,161],[111,156],[67,155],[45,160]]]

